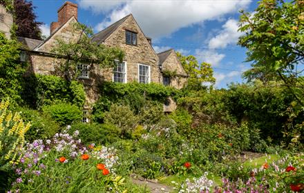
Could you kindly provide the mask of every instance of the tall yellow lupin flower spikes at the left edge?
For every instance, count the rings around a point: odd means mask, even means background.
[[[0,103],[0,166],[6,163],[17,164],[21,158],[18,150],[24,143],[24,134],[30,123],[24,125],[19,112],[14,115],[8,109],[10,103]]]

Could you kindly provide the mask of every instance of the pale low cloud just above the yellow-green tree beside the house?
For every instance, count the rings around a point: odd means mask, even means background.
[[[220,61],[225,58],[225,54],[219,54],[214,50],[200,50],[196,49],[196,59],[200,62],[210,63],[212,67],[220,65]]]

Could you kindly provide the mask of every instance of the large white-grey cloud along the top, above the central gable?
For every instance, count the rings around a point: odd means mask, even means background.
[[[96,26],[102,30],[111,23],[132,13],[145,34],[152,38],[168,36],[169,34],[211,19],[217,19],[224,14],[236,12],[251,3],[250,0],[234,1],[194,1],[194,0],[116,0],[93,1],[78,0],[79,6],[91,9],[95,13],[103,12],[108,17]]]

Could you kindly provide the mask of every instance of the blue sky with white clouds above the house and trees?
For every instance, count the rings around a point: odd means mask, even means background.
[[[73,0],[78,4],[78,21],[95,32],[132,13],[153,48],[161,52],[173,48],[182,54],[193,54],[198,61],[211,63],[216,88],[231,82],[242,82],[242,72],[250,68],[244,63],[246,50],[236,45],[238,10],[252,12],[256,0]],[[33,0],[37,21],[44,22],[48,36],[52,21],[57,21],[61,0]]]

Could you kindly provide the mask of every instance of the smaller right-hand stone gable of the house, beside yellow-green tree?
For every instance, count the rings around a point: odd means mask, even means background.
[[[167,59],[162,63],[162,71],[169,70],[176,72],[176,77],[171,77],[170,85],[174,88],[181,89],[187,84],[187,74],[180,64],[177,55],[172,50]]]

